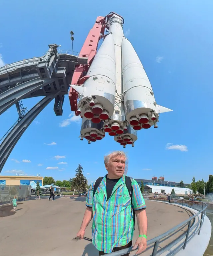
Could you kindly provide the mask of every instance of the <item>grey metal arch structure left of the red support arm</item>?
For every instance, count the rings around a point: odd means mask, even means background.
[[[24,59],[0,68],[0,115],[16,105],[19,119],[1,139],[0,173],[14,146],[37,115],[55,99],[54,112],[63,113],[65,94],[68,94],[77,54],[58,51],[60,45],[49,45],[44,56]],[[29,112],[25,113],[22,99],[44,96]]]

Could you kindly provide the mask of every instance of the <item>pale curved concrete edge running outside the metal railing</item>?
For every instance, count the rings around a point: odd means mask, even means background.
[[[150,200],[152,201],[152,200]],[[160,202],[160,201],[157,201]],[[167,202],[162,202],[161,203],[167,203]],[[180,206],[182,208],[185,208],[187,210],[190,210],[191,212],[193,212],[194,214],[198,213],[197,210],[187,207],[187,206],[182,206],[179,204],[175,204],[172,203],[172,205],[177,205]],[[199,214],[198,216],[201,216],[201,214]],[[196,256],[203,256],[203,254],[205,253],[210,238],[211,238],[211,233],[212,233],[212,225],[211,222],[209,220],[209,218],[207,216],[205,216],[204,221],[203,221],[203,225],[200,231],[200,235],[198,236],[198,233],[196,233],[192,239],[190,239],[187,244],[186,244],[186,248],[180,249],[175,255],[177,256],[188,256],[188,255],[196,255]],[[185,239],[182,239],[179,243],[182,243]],[[168,253],[169,251],[167,251]]]

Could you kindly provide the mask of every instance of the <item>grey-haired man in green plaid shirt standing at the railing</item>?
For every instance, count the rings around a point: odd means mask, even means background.
[[[84,238],[85,229],[93,218],[92,242],[99,255],[132,246],[134,213],[139,237],[133,249],[138,246],[136,254],[146,249],[146,205],[138,183],[124,175],[125,161],[123,151],[107,155],[104,163],[108,174],[93,183],[88,191],[87,208],[77,236]]]

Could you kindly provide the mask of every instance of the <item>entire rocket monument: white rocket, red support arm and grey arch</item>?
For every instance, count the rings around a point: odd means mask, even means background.
[[[157,105],[123,24],[114,12],[99,16],[79,54],[50,44],[44,56],[0,68],[0,115],[14,104],[19,114],[0,140],[0,172],[21,135],[53,99],[55,114],[62,115],[66,94],[71,111],[82,117],[80,139],[89,144],[108,133],[120,145],[134,146],[137,131],[158,127],[159,114],[171,110]],[[22,100],[37,96],[44,98],[26,111]]]

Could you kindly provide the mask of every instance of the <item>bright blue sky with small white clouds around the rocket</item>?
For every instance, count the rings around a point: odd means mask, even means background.
[[[213,1],[37,0],[28,5],[2,0],[0,9],[0,24],[4,24],[0,64],[42,56],[52,43],[71,49],[70,30],[75,33],[74,50],[79,52],[97,16],[110,11],[122,15],[124,32],[142,61],[157,103],[173,109],[160,115],[158,129],[139,131],[135,147],[124,149],[129,156],[128,175],[144,179],[164,175],[165,180],[185,183],[193,176],[208,180],[213,159]],[[30,109],[39,100],[23,103]],[[18,141],[1,175],[18,170],[64,180],[74,177],[79,163],[89,183],[106,173],[104,154],[123,148],[108,135],[90,145],[80,141],[80,122],[70,116],[68,96],[63,116],[55,116],[53,104]],[[14,106],[0,116],[1,135],[17,117]]]

